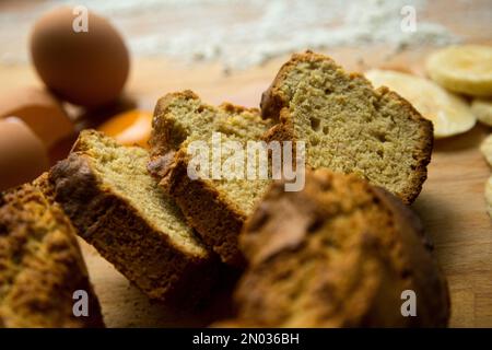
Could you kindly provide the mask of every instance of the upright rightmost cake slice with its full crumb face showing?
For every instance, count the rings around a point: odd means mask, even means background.
[[[293,55],[261,98],[279,120],[267,139],[306,142],[306,163],[355,173],[411,203],[426,178],[432,122],[386,88],[374,90],[329,57]]]

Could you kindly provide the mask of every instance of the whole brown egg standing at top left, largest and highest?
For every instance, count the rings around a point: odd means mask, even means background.
[[[86,32],[84,32],[86,24]],[[95,107],[114,101],[128,78],[128,49],[105,19],[60,7],[34,25],[31,56],[45,82],[61,98]]]

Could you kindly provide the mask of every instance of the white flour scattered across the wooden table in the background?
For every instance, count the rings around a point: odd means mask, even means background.
[[[385,43],[395,50],[458,40],[446,27],[420,19],[425,0],[86,0],[124,33],[134,56],[164,55],[185,61],[219,60],[227,69],[260,65],[305,48],[324,49]],[[0,33],[17,16],[34,21],[60,1],[45,1],[26,13],[1,13]],[[417,31],[400,30],[401,8],[417,10]],[[19,21],[17,21],[19,22]],[[7,30],[7,27],[5,27]],[[19,28],[17,28],[19,30]],[[26,46],[26,45],[25,45]],[[26,59],[1,48],[3,60]]]

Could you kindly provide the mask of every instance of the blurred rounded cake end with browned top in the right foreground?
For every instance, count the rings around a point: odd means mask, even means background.
[[[353,174],[307,173],[297,192],[276,183],[239,246],[248,268],[235,291],[237,319],[216,326],[447,325],[447,283],[419,219]],[[417,316],[405,317],[410,295]]]

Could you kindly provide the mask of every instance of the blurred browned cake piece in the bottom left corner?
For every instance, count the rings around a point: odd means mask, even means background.
[[[0,327],[104,327],[70,221],[32,185],[0,194]]]

